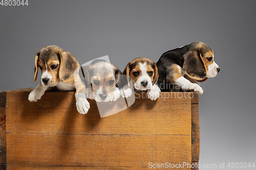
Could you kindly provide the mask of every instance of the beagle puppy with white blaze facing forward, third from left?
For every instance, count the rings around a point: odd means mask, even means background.
[[[156,100],[159,97],[160,88],[156,85],[158,80],[158,69],[156,64],[147,58],[136,58],[123,70],[123,75],[126,75],[125,86],[121,90],[121,96],[129,97],[132,95],[130,86],[130,78],[132,79],[135,90],[147,90],[147,96],[151,100]]]

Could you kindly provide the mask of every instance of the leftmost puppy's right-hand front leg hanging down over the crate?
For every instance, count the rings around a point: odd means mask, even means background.
[[[81,114],[86,114],[90,109],[90,104],[86,99],[86,86],[82,83],[80,77],[75,80],[75,98],[76,109]]]

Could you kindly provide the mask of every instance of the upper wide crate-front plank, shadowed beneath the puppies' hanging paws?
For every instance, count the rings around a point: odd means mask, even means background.
[[[157,101],[139,98],[130,108],[100,118],[93,101],[86,115],[79,114],[74,92],[46,92],[35,103],[28,101],[28,94],[7,92],[8,133],[191,134],[190,99],[185,96]]]

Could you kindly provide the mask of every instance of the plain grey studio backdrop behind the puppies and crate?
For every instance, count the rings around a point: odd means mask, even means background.
[[[109,55],[123,70],[136,57],[157,62],[202,41],[221,71],[201,83],[200,164],[256,161],[256,1],[28,2],[0,6],[0,91],[35,87],[35,53],[47,45],[80,64]]]

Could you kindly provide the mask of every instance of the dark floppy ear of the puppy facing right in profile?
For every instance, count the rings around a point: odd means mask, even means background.
[[[199,50],[189,50],[184,54],[182,69],[188,77],[195,80],[203,80],[206,77],[206,69]]]

